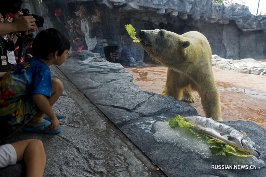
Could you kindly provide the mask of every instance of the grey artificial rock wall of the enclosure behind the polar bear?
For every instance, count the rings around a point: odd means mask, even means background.
[[[45,16],[45,28],[58,29],[54,9],[69,11],[67,4],[78,6],[80,2],[47,0],[39,5],[31,0],[30,5],[25,2],[22,6],[30,6],[36,14]],[[132,24],[136,32],[157,28],[183,34],[196,30],[207,37],[213,54],[222,58],[266,58],[266,15],[254,16],[244,5],[224,5],[211,0],[95,0],[93,3],[100,7],[104,19],[101,36],[108,45],[127,47],[131,56],[120,62],[124,65],[143,65],[146,57],[142,47],[133,43],[125,32],[125,24]]]

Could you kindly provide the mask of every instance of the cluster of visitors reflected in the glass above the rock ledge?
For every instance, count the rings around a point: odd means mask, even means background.
[[[84,3],[73,12],[73,18],[67,16],[60,8],[55,9],[54,15],[67,31],[71,39],[71,51],[89,50],[93,53],[100,53],[105,58],[102,38],[100,37],[100,27],[102,27],[101,12],[97,7],[86,6]]]

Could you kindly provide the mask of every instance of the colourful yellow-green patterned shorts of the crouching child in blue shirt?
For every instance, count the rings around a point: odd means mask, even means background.
[[[0,109],[1,110],[1,109]],[[27,124],[37,113],[38,107],[33,100],[22,101],[21,106],[16,111],[0,117],[1,121],[9,125]]]

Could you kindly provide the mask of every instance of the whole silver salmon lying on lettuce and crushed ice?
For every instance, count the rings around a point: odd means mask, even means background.
[[[197,130],[202,132],[202,134],[230,145],[246,154],[254,155],[256,157],[260,156],[259,151],[254,148],[254,143],[248,140],[241,132],[229,125],[201,116],[183,118],[186,122],[193,124]]]

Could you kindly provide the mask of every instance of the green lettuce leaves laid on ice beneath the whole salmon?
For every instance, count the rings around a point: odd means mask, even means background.
[[[222,156],[228,156],[228,155],[236,155],[239,157],[249,157],[252,155],[246,154],[242,151],[239,151],[229,145],[225,145],[223,142],[211,139],[210,137],[201,134],[196,128],[194,128],[194,125],[186,122],[183,117],[180,115],[177,115],[174,119],[169,120],[169,126],[171,128],[180,127],[180,128],[186,128],[194,136],[197,136],[197,138],[205,138],[207,143],[210,143],[211,146],[209,147],[212,155],[222,155]],[[241,132],[242,133],[242,132]],[[242,133],[244,134],[244,132]]]

